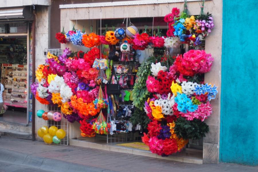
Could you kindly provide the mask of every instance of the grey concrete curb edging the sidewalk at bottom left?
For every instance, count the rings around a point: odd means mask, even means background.
[[[87,165],[80,165],[56,159],[42,158],[34,155],[0,148],[0,161],[15,165],[25,165],[53,172],[112,172],[111,170]]]

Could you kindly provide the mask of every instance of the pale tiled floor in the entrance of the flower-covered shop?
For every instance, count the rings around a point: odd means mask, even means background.
[[[132,149],[132,150],[140,150],[140,152],[141,152],[140,154],[143,154],[143,156],[144,156],[144,153],[150,154],[150,156],[152,155],[152,153],[149,150],[141,150],[141,149],[137,149],[137,148],[130,148],[130,147],[126,147],[126,146],[117,145],[119,143],[109,143],[109,144],[107,144],[107,138],[106,137],[77,138],[77,140],[80,140],[80,141],[83,141],[83,142],[101,144],[103,146],[112,146],[113,148],[110,147],[111,151],[112,151],[112,149],[117,147],[118,149],[119,148],[126,148],[126,149],[129,149],[129,151],[130,151],[130,149]],[[138,142],[140,142],[140,141],[138,141]],[[94,148],[95,144],[92,144],[93,147],[92,146],[89,146],[89,147]],[[95,145],[95,146],[97,146],[96,148],[98,149],[98,147],[100,145]],[[88,146],[86,146],[86,147],[88,147]],[[156,154],[153,154],[153,155],[156,155]],[[197,159],[197,160],[201,160],[202,161],[203,152],[202,152],[202,150],[185,148],[181,152],[177,152],[177,153],[173,154],[172,156],[178,157],[178,158]],[[171,156],[169,156],[169,157],[171,157]],[[164,157],[164,159],[166,159],[166,157]]]

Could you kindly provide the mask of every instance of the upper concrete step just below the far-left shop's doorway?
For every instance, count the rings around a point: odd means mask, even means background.
[[[26,124],[18,124],[13,122],[7,122],[0,120],[0,128],[4,128],[7,130],[15,130],[21,132],[32,133],[32,127]]]

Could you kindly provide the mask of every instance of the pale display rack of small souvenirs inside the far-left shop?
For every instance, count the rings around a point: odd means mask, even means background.
[[[27,108],[27,65],[2,64],[1,69],[5,104]]]

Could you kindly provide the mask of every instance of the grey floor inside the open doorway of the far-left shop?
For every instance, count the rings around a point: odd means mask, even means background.
[[[27,124],[27,112],[7,110],[0,116],[0,121]]]

